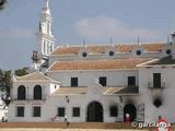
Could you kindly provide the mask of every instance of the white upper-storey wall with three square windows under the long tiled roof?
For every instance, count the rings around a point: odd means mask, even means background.
[[[60,71],[48,72],[48,76],[60,81],[60,86],[71,86],[71,78],[79,78],[79,86],[89,86],[98,80],[100,76],[107,78],[107,86],[128,85],[128,76],[136,76],[136,84],[138,85],[138,70],[100,70],[100,71]]]

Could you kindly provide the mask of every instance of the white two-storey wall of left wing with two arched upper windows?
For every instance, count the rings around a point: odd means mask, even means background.
[[[18,88],[20,85],[24,85],[26,90],[26,99],[18,100]],[[34,99],[34,87],[36,85],[42,86],[42,99]],[[45,116],[45,112],[49,112],[46,100],[49,96],[59,88],[58,84],[49,82],[18,82],[13,84],[11,88],[11,98],[12,102],[9,107],[8,119],[9,121],[46,121],[43,117],[33,117],[33,107],[42,107],[42,116]],[[24,117],[16,117],[16,107],[24,106]],[[46,106],[46,107],[45,107]],[[45,110],[46,109],[46,110]]]

